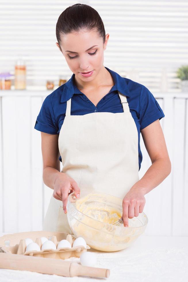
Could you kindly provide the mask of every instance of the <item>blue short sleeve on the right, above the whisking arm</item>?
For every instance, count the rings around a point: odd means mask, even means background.
[[[140,129],[148,126],[157,119],[162,119],[164,113],[153,94],[142,85],[140,93],[139,119]]]

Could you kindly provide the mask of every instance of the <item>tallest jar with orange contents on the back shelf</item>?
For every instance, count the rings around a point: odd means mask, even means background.
[[[15,65],[15,89],[26,89],[26,65],[22,59]]]

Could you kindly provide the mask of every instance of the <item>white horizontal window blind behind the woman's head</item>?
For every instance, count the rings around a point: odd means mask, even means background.
[[[0,72],[14,75],[16,60],[27,67],[27,85],[72,75],[56,46],[60,14],[75,3],[101,16],[106,34],[104,66],[144,84],[150,91],[179,92],[176,70],[188,64],[187,1],[0,1]]]

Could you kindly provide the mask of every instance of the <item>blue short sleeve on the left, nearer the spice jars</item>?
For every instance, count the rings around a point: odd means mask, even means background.
[[[53,108],[50,101],[50,96],[48,95],[43,104],[41,106],[41,110],[39,115],[37,116],[37,120],[34,126],[34,129],[39,131],[49,133],[49,134],[57,134],[59,128],[55,121],[55,116],[53,113]]]

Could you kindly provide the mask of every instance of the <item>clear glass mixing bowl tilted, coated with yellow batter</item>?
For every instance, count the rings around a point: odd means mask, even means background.
[[[88,212],[89,216],[86,215]],[[111,217],[113,223],[121,216],[122,199],[118,197],[96,191],[80,191],[79,199],[74,192],[68,196],[67,218],[70,228],[76,238],[83,237],[93,249],[125,249],[145,231],[148,218],[144,212],[128,219],[128,227],[102,222]]]

